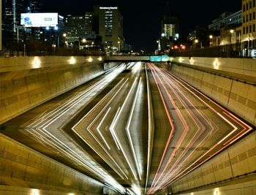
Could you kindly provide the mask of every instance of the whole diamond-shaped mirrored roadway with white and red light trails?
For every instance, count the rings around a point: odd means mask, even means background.
[[[175,75],[140,62],[120,64],[1,126],[1,133],[120,193],[147,194],[251,130]]]

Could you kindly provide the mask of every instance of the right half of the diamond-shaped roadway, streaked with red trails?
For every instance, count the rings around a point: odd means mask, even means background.
[[[165,69],[148,64],[154,144],[148,194],[166,188],[252,127]],[[157,109],[155,109],[157,108]]]

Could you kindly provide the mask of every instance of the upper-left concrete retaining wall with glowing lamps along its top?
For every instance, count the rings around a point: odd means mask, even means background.
[[[104,73],[99,57],[0,58],[0,124]]]

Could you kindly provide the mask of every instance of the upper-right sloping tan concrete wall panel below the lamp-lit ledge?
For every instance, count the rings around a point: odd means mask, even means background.
[[[171,71],[256,126],[255,84],[177,64],[172,64]]]

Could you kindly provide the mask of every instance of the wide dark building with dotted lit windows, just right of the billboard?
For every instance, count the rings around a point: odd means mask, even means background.
[[[85,15],[67,15],[64,33],[66,41],[71,44],[92,33],[92,12]]]

